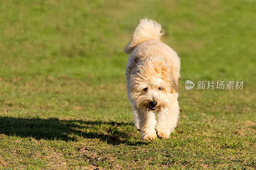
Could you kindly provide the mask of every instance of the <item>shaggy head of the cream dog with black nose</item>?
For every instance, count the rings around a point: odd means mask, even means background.
[[[168,107],[178,90],[174,71],[161,57],[149,58],[132,70],[130,95],[137,107],[154,112]]]

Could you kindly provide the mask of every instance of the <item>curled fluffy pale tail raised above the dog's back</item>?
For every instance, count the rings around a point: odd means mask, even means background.
[[[160,40],[161,35],[164,34],[164,30],[162,30],[162,26],[156,21],[147,18],[141,19],[140,24],[138,24],[133,33],[132,40],[124,48],[124,52],[130,54],[137,45],[144,41],[150,39]]]

